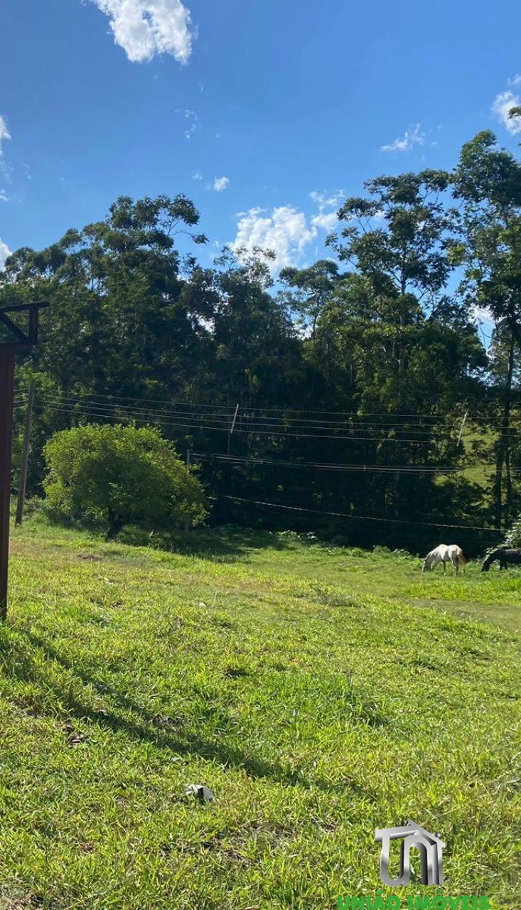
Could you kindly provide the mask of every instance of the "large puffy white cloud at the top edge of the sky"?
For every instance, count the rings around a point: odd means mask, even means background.
[[[170,54],[187,63],[192,53],[190,12],[181,0],[93,0],[108,15],[116,45],[132,63]]]

